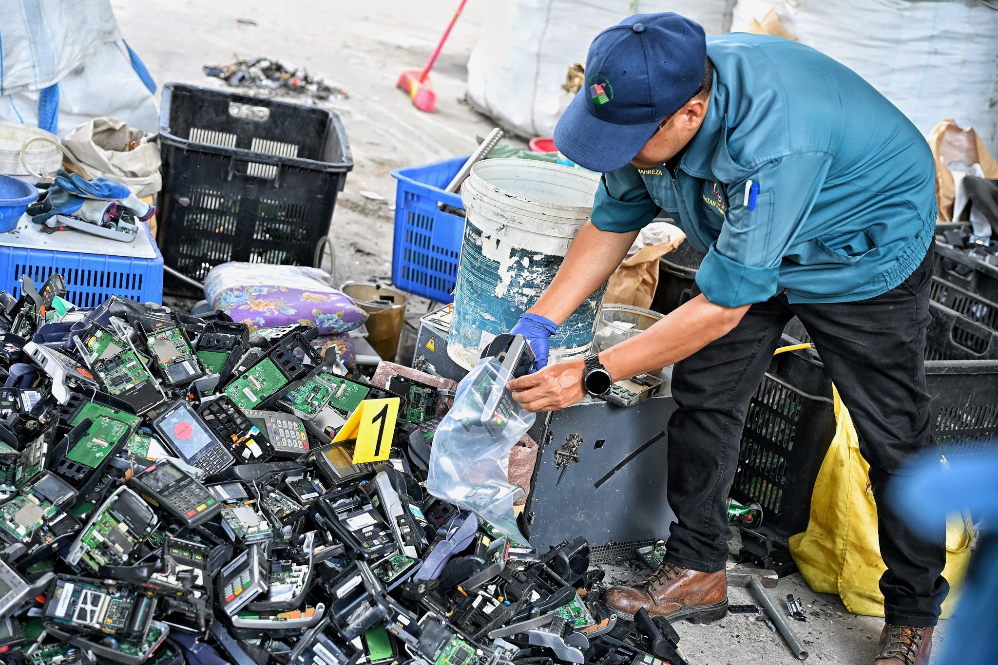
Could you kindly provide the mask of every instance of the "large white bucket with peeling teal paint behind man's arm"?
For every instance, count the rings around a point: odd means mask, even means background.
[[[479,162],[461,186],[467,210],[447,353],[470,369],[481,348],[509,332],[554,279],[589,219],[599,175],[529,160]],[[551,362],[585,354],[602,287],[551,339]]]

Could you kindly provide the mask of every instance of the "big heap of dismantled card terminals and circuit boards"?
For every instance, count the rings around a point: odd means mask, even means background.
[[[676,665],[599,601],[582,538],[512,542],[424,490],[446,395],[59,275],[0,293],[0,659],[18,664]],[[439,384],[437,384],[439,385]],[[397,397],[387,460],[337,433]]]

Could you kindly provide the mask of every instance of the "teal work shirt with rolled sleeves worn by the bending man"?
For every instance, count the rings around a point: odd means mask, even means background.
[[[625,232],[669,212],[707,252],[716,304],[845,302],[918,266],[935,232],[935,166],[912,123],[857,74],[777,37],[709,37],[714,89],[675,175],[605,173],[592,221]],[[749,209],[747,184],[758,185]]]

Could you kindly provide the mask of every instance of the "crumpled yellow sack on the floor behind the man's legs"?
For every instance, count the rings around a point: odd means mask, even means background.
[[[833,390],[833,396],[835,438],[814,483],[807,530],[789,538],[790,553],[814,591],[837,593],[853,614],[883,616],[878,583],[887,566],[880,558],[869,465],[859,454],[856,431],[838,391]],[[951,515],[946,523],[946,567],[942,571],[950,593],[942,604],[943,618],[956,606],[973,539],[969,514]]]

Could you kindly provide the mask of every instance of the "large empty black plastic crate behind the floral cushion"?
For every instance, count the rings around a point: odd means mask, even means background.
[[[160,144],[159,244],[198,281],[226,261],[311,265],[353,168],[332,111],[180,83],[163,89]]]

